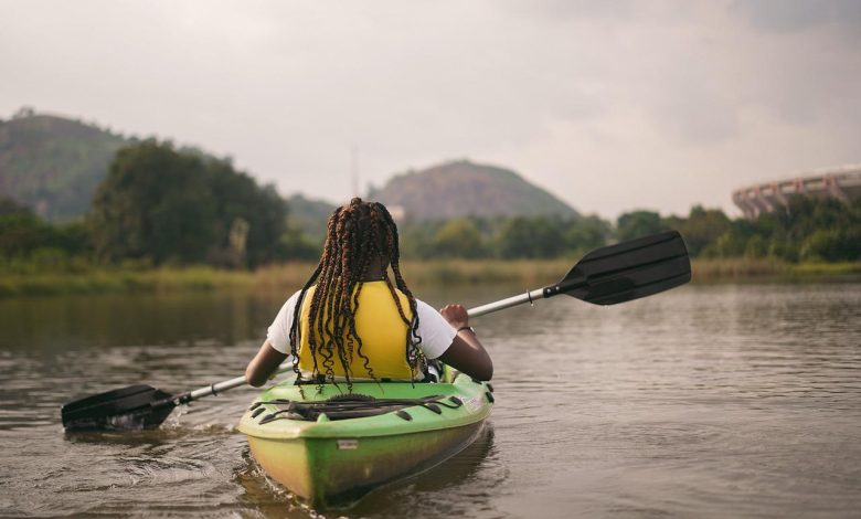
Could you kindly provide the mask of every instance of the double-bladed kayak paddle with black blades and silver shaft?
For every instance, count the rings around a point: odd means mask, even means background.
[[[690,279],[691,264],[684,241],[678,232],[669,231],[596,248],[559,283],[472,308],[469,315],[482,316],[560,294],[596,305],[616,305],[669,290]],[[291,370],[288,366],[278,373]],[[129,385],[64,405],[63,427],[66,431],[158,427],[173,407],[245,383],[245,377],[237,377],[177,395],[150,385]]]

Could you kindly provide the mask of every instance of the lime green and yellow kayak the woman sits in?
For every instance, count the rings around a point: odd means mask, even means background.
[[[321,391],[319,389],[321,388]],[[471,444],[493,389],[446,371],[443,382],[277,384],[240,421],[264,472],[313,507],[353,502]]]

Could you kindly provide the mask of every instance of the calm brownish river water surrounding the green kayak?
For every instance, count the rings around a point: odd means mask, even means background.
[[[479,304],[501,288],[422,292]],[[160,430],[64,434],[60,406],[236,377],[279,297],[0,300],[0,515],[315,517],[235,431],[236,389]],[[861,285],[560,296],[475,319],[497,404],[467,451],[326,517],[859,517]]]

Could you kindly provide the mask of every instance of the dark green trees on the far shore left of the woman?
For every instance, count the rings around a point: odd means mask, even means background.
[[[310,258],[316,246],[287,226],[287,204],[227,160],[170,142],[120,149],[81,222],[52,225],[0,201],[0,266],[84,271],[209,264],[254,268]]]

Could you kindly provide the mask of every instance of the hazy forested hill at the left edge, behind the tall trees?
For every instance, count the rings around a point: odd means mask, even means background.
[[[0,120],[0,195],[53,220],[84,214],[114,153],[134,139],[21,109]]]

